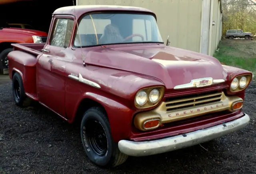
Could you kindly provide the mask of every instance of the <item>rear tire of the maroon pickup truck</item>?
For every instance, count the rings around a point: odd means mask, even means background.
[[[19,73],[14,73],[12,77],[12,95],[15,104],[19,107],[27,107],[32,101],[26,96],[22,77]]]

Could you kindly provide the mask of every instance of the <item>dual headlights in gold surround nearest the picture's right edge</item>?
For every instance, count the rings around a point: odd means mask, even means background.
[[[248,86],[250,79],[251,79],[250,74],[236,76],[230,84],[230,91],[237,92],[237,91],[243,90]]]

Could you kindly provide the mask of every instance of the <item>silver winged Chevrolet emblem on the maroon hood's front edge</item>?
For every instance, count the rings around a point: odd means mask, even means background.
[[[186,83],[183,85],[177,85],[174,89],[184,89],[184,88],[191,88],[191,87],[206,87],[216,83],[225,82],[224,79],[212,79],[212,77],[206,77],[201,79],[193,79],[190,83]]]

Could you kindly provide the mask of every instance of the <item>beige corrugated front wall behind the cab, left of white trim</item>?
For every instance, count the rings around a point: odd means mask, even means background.
[[[164,42],[200,52],[202,0],[77,0],[78,5],[122,5],[148,8],[157,15]]]

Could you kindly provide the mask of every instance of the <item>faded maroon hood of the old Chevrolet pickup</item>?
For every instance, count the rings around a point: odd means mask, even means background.
[[[203,77],[227,79],[227,72],[216,58],[165,45],[99,48],[85,57],[90,64],[155,77],[167,89]]]

